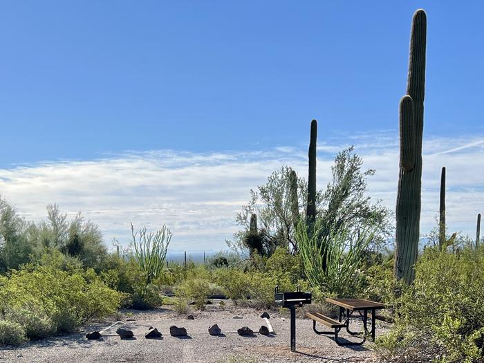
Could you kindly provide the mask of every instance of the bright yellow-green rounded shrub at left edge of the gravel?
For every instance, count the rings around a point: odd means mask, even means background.
[[[32,337],[71,331],[91,319],[102,319],[115,313],[121,299],[121,294],[106,286],[92,269],[67,272],[28,265],[1,279],[0,287],[0,311],[24,324]],[[41,328],[32,326],[37,324],[36,317]]]

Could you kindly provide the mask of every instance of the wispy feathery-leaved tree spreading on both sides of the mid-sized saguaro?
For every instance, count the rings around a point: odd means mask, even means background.
[[[331,182],[326,190],[316,191],[315,221],[318,223],[319,234],[329,234],[335,227],[342,225],[347,230],[357,232],[359,227],[367,225],[371,219],[378,225],[372,244],[384,241],[389,236],[389,211],[380,202],[373,203],[366,195],[366,179],[375,171],[362,171],[362,164],[362,158],[354,153],[353,147],[337,154]],[[255,213],[263,254],[271,254],[278,245],[290,246],[296,252],[295,226],[299,224],[299,216],[306,215],[308,201],[306,181],[297,178],[290,167],[282,167],[274,171],[267,183],[258,187],[257,192],[251,190],[250,194],[249,203],[243,205],[241,212],[236,215],[236,222],[242,228],[234,234],[232,241],[227,241],[230,248],[248,248],[244,241],[250,231],[251,216]]]

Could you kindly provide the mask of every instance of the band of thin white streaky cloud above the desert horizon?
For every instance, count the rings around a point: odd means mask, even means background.
[[[395,132],[360,134],[320,141],[318,184],[331,180],[335,153],[348,145],[376,170],[369,195],[395,208],[398,185],[398,136]],[[483,212],[484,138],[429,138],[423,147],[422,234],[436,225],[440,169],[447,167],[449,232],[475,234]],[[48,203],[59,203],[73,216],[82,211],[100,226],[104,240],[129,243],[129,223],[154,230],[166,223],[172,250],[220,250],[236,232],[236,212],[250,189],[265,183],[282,165],[307,174],[306,146],[270,151],[192,153],[126,151],[97,160],[62,160],[0,169],[0,193],[28,220],[46,216]]]

